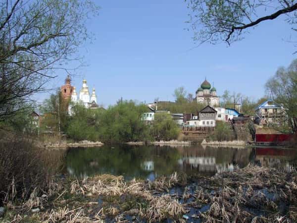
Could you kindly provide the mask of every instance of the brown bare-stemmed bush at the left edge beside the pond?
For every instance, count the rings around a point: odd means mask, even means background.
[[[34,189],[47,191],[61,164],[59,154],[14,138],[0,139],[0,203],[26,200]]]

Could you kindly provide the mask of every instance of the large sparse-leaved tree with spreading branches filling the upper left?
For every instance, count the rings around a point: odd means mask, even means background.
[[[31,109],[30,96],[80,59],[86,21],[96,13],[91,0],[0,1],[0,122]]]

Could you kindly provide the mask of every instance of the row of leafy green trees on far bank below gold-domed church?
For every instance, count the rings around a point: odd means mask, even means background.
[[[118,102],[108,109],[86,109],[82,104],[71,105],[71,115],[68,115],[68,107],[55,105],[57,95],[52,95],[51,100],[45,103],[44,111],[57,113],[43,121],[45,128],[58,130],[65,133],[69,139],[75,141],[91,140],[105,143],[120,143],[130,141],[171,140],[179,135],[180,128],[166,112],[155,115],[155,121],[147,124],[143,114],[148,112],[144,104],[134,101]],[[60,99],[61,100],[61,99]],[[57,118],[60,119],[58,123]]]

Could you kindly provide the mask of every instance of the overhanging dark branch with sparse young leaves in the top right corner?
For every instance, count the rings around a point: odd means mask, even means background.
[[[201,43],[230,45],[243,39],[248,28],[283,14],[289,24],[297,22],[296,0],[188,0],[188,8],[194,39]]]

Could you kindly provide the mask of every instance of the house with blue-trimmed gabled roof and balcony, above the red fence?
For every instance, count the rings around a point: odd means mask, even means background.
[[[273,100],[267,100],[255,109],[255,123],[265,125],[285,118],[284,108]]]

